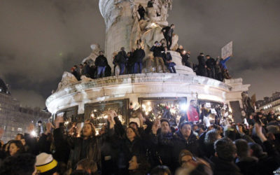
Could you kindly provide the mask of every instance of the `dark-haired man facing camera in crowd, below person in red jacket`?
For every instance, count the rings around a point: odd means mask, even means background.
[[[174,134],[174,158],[179,158],[180,152],[186,149],[193,153],[193,155],[199,155],[199,144],[197,137],[193,134],[190,123],[181,123],[179,130]],[[176,166],[179,167],[179,162],[176,162]]]

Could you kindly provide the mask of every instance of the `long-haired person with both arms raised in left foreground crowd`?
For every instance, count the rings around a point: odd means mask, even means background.
[[[108,132],[100,136],[95,135],[95,127],[92,123],[85,123],[80,137],[66,137],[63,134],[63,126],[60,123],[64,123],[63,118],[57,118],[55,120],[54,139],[55,141],[66,140],[68,146],[71,148],[71,155],[69,156],[69,167],[76,166],[78,161],[84,158],[90,158],[97,162],[97,166],[101,167],[101,153],[100,147],[108,136],[113,134],[113,117],[117,116],[115,111],[110,111],[108,114]]]

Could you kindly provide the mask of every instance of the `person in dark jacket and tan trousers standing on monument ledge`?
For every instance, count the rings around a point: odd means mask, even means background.
[[[160,63],[160,65],[162,66],[162,72],[165,73],[165,62],[162,59],[162,51],[164,51],[164,48],[158,41],[155,41],[155,45],[153,45],[151,51],[153,52],[153,57],[155,59],[155,70],[157,72],[160,72],[160,70],[158,69]]]

